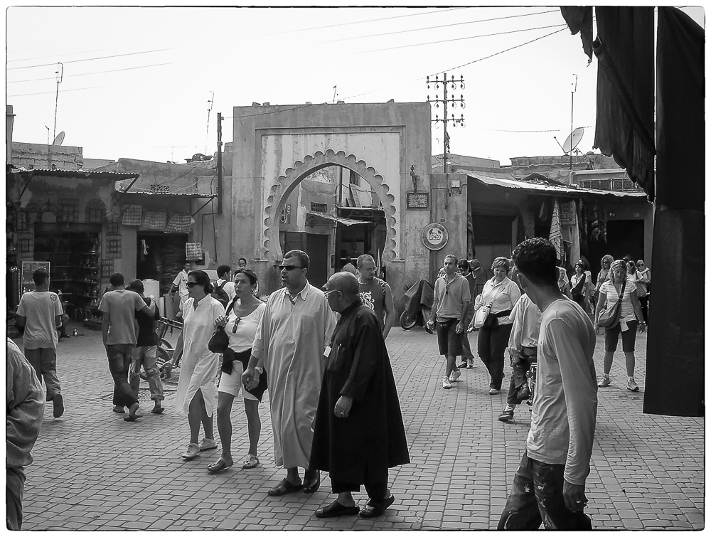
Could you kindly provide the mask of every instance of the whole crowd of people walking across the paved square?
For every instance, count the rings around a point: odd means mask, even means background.
[[[190,435],[183,459],[191,461],[218,447],[216,409],[221,453],[206,469],[214,474],[232,467],[231,411],[242,391],[249,437],[242,468],[257,467],[262,429],[258,405],[268,390],[274,462],[286,474],[267,494],[312,494],[320,487],[320,472],[326,471],[337,496],[315,516],[382,515],[395,501],[388,469],[410,462],[385,346],[395,321],[390,286],[375,277],[373,257],[361,255],[355,275],[336,272],[323,290],[317,289],[307,279],[309,256],[291,250],[279,265],[282,288],[264,303],[257,298],[257,275],[244,266],[246,260],[240,265],[235,271],[221,265],[214,282],[207,272],[186,266],[174,283],[183,319],[173,356],[182,360],[176,410],[187,416]],[[454,255],[444,257],[442,275],[434,285],[427,326],[437,326],[445,361],[442,388],[453,387],[460,368],[474,367],[467,336],[474,330],[491,395],[503,386],[508,349],[513,374],[506,408],[498,418],[502,422],[513,420],[516,406],[531,398],[526,373],[533,364],[538,369],[527,450],[501,515],[501,529],[533,529],[541,522],[546,528],[590,528],[583,512],[584,483],[597,388],[611,384],[620,334],[627,388],[638,390],[634,344],[636,332],[646,326],[650,270],[642,261],[606,255],[597,283],[585,260],[575,263],[569,282],[558,265],[555,248],[536,238],[518,245],[512,259],[497,257],[491,265],[493,277],[478,294],[481,265]],[[55,351],[63,312],[58,295],[48,291],[48,274],[38,270],[33,280],[36,290],[24,294],[18,308],[24,356],[8,340],[8,442],[11,434],[17,439],[12,465],[8,459],[8,494],[14,502],[9,499],[8,520],[14,506],[14,528],[21,526],[22,468],[31,462],[29,452],[43,413],[42,380],[55,417],[64,411]],[[151,412],[164,412],[156,366],[159,312],[154,297],[144,296],[140,280],[126,286],[123,275],[116,273],[109,282],[111,290],[102,297],[100,310],[114,381],[113,411],[127,413],[124,420],[135,422],[141,417],[141,368],[154,401]],[[592,363],[595,331],[602,312],[612,307],[619,307],[619,314],[605,326],[604,372],[598,383]],[[462,358],[459,366],[457,356]],[[16,419],[14,430],[11,419]],[[353,499],[361,485],[369,498],[362,507]]]

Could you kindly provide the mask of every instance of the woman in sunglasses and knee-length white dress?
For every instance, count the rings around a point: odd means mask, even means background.
[[[183,454],[186,461],[194,459],[201,451],[218,447],[213,433],[213,413],[217,400],[215,377],[220,355],[210,352],[208,341],[215,331],[215,320],[225,314],[223,305],[210,296],[213,286],[207,272],[190,272],[187,286],[183,332],[178,337],[175,350],[178,355],[183,354],[176,406],[178,412],[188,415],[190,425],[190,443]],[[198,445],[201,422],[205,438]]]

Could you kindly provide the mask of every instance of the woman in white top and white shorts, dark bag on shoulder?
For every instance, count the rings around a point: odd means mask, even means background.
[[[257,387],[247,391],[242,386],[242,373],[252,356],[252,342],[255,341],[257,326],[260,324],[264,309],[267,308],[267,304],[255,297],[256,288],[257,275],[254,271],[247,268],[235,270],[235,298],[227,305],[225,314],[215,321],[217,326],[223,326],[230,342],[223,355],[222,376],[218,388],[218,432],[220,432],[222,454],[216,462],[208,466],[210,474],[221,472],[234,464],[230,413],[232,403],[240,393],[240,389],[243,390],[245,398],[247,432],[250,437],[250,451],[242,461],[242,468],[255,468],[260,464],[260,459],[257,457],[257,443],[262,432],[259,403],[267,389],[267,373],[263,371],[262,363],[257,363],[255,368],[260,371],[260,383]]]

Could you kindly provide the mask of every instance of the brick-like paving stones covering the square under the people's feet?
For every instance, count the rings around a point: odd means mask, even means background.
[[[330,480],[321,489],[269,498],[284,470],[274,466],[267,397],[260,405],[261,464],[243,470],[247,421],[240,400],[232,411],[235,467],[211,475],[219,457],[203,452],[179,457],[188,440],[186,417],[174,409],[174,385],[166,386],[166,413],[153,415],[141,384],[138,422],[112,413],[112,381],[101,335],[60,344],[63,418],[47,405],[35,460],[26,469],[23,529],[30,530],[483,530],[496,528],[513,474],[525,449],[530,411],[497,420],[506,393],[488,394],[486,369],[463,370],[451,390],[440,386],[444,361],[437,338],[416,328],[392,330],[387,339],[400,391],[412,463],[392,469],[396,501],[377,520],[316,519],[333,500]],[[476,349],[476,334],[471,334]],[[602,371],[603,337],[595,363]],[[638,339],[646,348],[646,335]],[[587,479],[594,528],[700,529],[704,527],[704,420],[642,414],[644,352],[637,353],[641,390],[626,390],[624,356],[615,356],[612,386],[599,390],[592,472]],[[507,379],[510,368],[507,366]],[[217,428],[215,427],[215,433]],[[365,492],[355,496],[361,505]]]

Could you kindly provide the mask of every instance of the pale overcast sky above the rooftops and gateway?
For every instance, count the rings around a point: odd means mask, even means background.
[[[703,24],[701,8],[684,11]],[[217,112],[232,141],[233,106],[331,102],[334,85],[346,102],[424,102],[442,96],[424,78],[444,70],[466,83],[455,90],[466,108],[452,110],[466,127],[448,127],[455,154],[562,154],[553,137],[570,133],[574,75],[579,149],[594,141],[597,60],[587,65],[557,7],[14,6],[6,50],[14,141],[53,137],[62,62],[56,132],[85,158],[184,162],[215,151]]]

